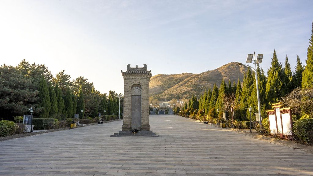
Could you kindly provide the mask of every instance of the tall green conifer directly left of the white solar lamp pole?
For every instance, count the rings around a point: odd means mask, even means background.
[[[241,120],[246,120],[247,116],[249,116],[248,119],[250,119],[250,112],[248,108],[250,106],[253,106],[254,104],[253,99],[251,98],[253,94],[254,84],[255,84],[254,77],[251,73],[251,70],[248,69],[248,71],[244,75],[242,93],[240,96],[240,111],[241,111],[240,119]]]

